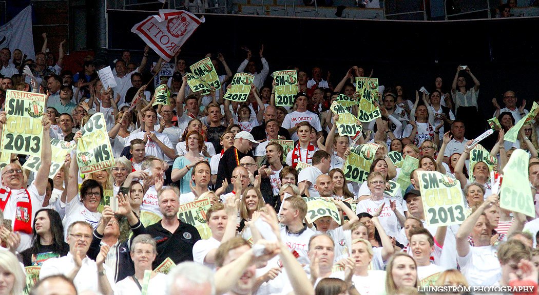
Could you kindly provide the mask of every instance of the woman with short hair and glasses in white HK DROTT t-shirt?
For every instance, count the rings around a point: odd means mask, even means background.
[[[386,180],[380,172],[374,171],[367,177],[367,184],[371,191],[368,199],[357,203],[356,213],[362,212],[376,212],[381,210],[379,215],[380,223],[386,229],[389,236],[397,236],[399,231],[399,225],[404,226],[404,208],[402,204],[399,204],[396,200],[391,200],[388,197],[384,197]],[[379,209],[381,208],[381,209]]]

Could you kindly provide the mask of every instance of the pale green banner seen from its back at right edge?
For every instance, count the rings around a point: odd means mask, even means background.
[[[531,196],[528,179],[528,160],[528,152],[517,149],[503,168],[500,207],[535,218],[534,198]]]

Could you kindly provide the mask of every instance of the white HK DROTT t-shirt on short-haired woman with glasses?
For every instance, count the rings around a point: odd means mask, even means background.
[[[396,237],[399,234],[400,225],[397,220],[397,215],[395,215],[395,212],[391,210],[390,207],[391,199],[388,197],[384,197],[382,200],[373,201],[372,199],[365,199],[360,201],[360,203],[357,203],[357,209],[356,214],[359,214],[361,212],[367,212],[371,215],[373,215],[376,210],[382,205],[382,203],[385,203],[384,207],[382,208],[382,213],[379,215],[378,219],[380,220],[380,224],[385,229],[385,232],[389,236]],[[399,211],[400,214],[404,215],[404,208],[402,204],[399,204],[399,202],[395,202],[397,211]]]

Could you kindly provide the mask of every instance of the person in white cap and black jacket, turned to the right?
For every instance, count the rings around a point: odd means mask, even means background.
[[[227,149],[219,160],[219,168],[217,169],[216,189],[223,185],[226,179],[229,183],[232,171],[239,166],[239,160],[244,156],[253,156],[250,152],[253,147],[258,145],[258,141],[254,140],[253,135],[247,131],[240,131],[234,138],[234,146]],[[248,153],[248,154],[247,154]]]

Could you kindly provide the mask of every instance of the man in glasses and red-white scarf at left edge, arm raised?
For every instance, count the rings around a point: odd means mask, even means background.
[[[5,112],[0,114],[0,128],[6,123]],[[43,129],[48,131],[51,121],[42,120]],[[14,232],[20,233],[19,252],[29,248],[32,242],[32,225],[36,212],[45,199],[49,170],[51,169],[51,138],[43,132],[41,166],[32,184],[26,188],[23,169],[18,162],[7,164],[2,169],[2,188],[0,190],[0,209],[5,219],[11,219]]]

